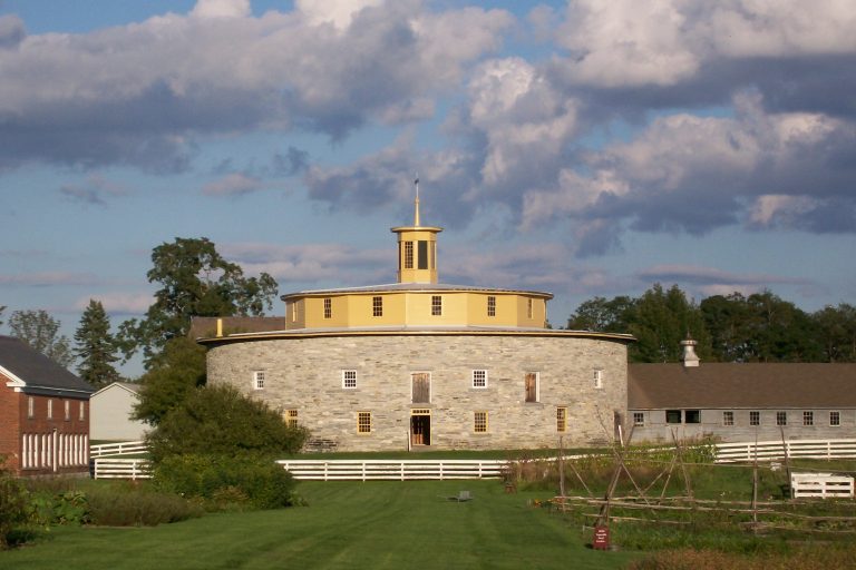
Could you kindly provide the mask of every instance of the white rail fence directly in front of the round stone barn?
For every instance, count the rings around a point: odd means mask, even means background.
[[[490,460],[282,460],[276,463],[294,479],[315,481],[496,479],[507,464]]]

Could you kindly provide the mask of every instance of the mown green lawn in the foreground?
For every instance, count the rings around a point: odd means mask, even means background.
[[[469,502],[449,501],[468,490]],[[60,528],[1,552],[0,568],[610,569],[639,553],[601,552],[546,509],[551,493],[498,481],[303,482],[308,507],[212,514],[146,529]]]

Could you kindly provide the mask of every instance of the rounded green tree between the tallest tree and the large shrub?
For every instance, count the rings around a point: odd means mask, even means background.
[[[205,348],[186,336],[172,338],[140,382],[134,417],[158,425],[194,389],[205,385]]]

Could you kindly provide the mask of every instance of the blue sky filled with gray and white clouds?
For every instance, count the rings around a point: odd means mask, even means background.
[[[0,0],[0,305],[74,335],[207,237],[280,294],[856,303],[852,0]],[[271,314],[283,314],[281,301]],[[130,363],[126,374],[139,373]]]

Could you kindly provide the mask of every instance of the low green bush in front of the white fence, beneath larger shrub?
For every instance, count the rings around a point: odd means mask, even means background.
[[[294,479],[273,458],[262,454],[186,454],[154,466],[164,491],[210,501],[217,509],[278,509],[294,504]]]

